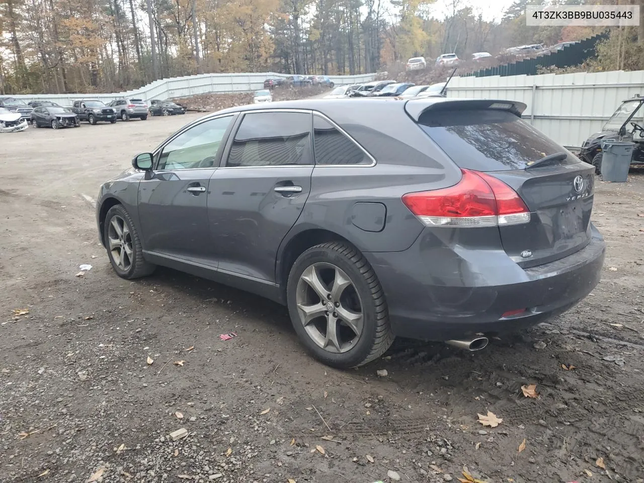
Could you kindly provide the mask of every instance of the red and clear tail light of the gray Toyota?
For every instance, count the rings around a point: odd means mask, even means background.
[[[530,221],[526,204],[507,184],[486,173],[460,171],[457,184],[405,194],[403,203],[427,226],[493,227]]]

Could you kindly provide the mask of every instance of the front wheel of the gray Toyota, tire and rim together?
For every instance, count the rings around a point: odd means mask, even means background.
[[[116,225],[113,223],[116,223]],[[121,228],[120,237],[116,229],[117,226]],[[114,205],[109,209],[105,217],[103,238],[109,262],[119,277],[130,280],[145,277],[155,271],[156,266],[143,258],[143,249],[137,227],[135,227],[132,218],[130,218],[123,205]],[[110,240],[115,240],[115,243],[111,245]],[[128,255],[128,249],[126,248],[124,250],[125,255],[121,259],[121,251],[119,251],[118,246],[122,247],[123,242],[126,247],[129,247],[130,254]],[[113,250],[110,247],[113,247]]]

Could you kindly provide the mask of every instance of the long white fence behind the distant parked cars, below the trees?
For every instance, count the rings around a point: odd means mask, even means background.
[[[70,106],[76,99],[100,99],[107,103],[120,97],[134,97],[135,99],[143,99],[149,102],[152,99],[165,100],[205,93],[254,91],[261,89],[264,85],[264,80],[271,77],[287,77],[287,75],[275,72],[198,74],[160,79],[137,90],[111,94],[35,94],[12,95],[11,97],[23,99],[26,102],[33,99],[46,99],[57,102],[61,106]],[[373,81],[375,74],[330,75],[328,77],[335,84],[353,84]]]

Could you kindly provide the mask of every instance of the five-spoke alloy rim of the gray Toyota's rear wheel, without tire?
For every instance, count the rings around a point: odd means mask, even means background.
[[[302,272],[296,292],[299,321],[316,345],[342,354],[363,332],[360,297],[347,274],[332,263],[318,262]]]

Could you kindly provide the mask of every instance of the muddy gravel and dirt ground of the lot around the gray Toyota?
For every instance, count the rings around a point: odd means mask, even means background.
[[[109,267],[99,184],[195,117],[0,136],[1,482],[456,482],[464,466],[643,481],[644,172],[596,184],[603,280],[569,313],[475,353],[397,341],[341,372],[303,352],[283,307]]]

